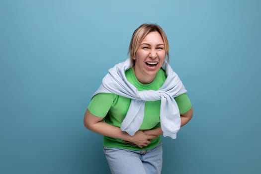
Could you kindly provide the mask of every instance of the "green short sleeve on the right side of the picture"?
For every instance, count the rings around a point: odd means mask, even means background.
[[[191,108],[191,102],[186,93],[178,95],[174,97],[174,99],[177,103],[180,114],[186,113]]]

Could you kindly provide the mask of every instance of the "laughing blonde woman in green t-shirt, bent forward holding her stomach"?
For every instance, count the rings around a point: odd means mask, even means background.
[[[191,103],[168,64],[169,43],[159,25],[138,27],[129,54],[93,94],[84,124],[104,135],[112,174],[160,174],[161,135],[176,138],[192,117]]]

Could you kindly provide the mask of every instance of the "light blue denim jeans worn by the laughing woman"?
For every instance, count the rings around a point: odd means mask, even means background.
[[[161,174],[162,143],[149,150],[103,149],[112,174]]]

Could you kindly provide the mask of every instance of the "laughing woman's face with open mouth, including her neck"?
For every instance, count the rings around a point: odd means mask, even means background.
[[[150,84],[166,57],[165,45],[159,32],[153,31],[141,42],[135,57],[134,73],[142,84]]]

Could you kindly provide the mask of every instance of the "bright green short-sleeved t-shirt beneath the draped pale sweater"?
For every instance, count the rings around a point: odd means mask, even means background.
[[[134,85],[139,91],[142,90],[158,90],[164,84],[167,76],[163,69],[157,73],[156,78],[150,84],[141,84],[135,77],[133,69],[128,69],[125,76],[129,83]],[[174,97],[179,113],[185,113],[191,108],[191,103],[187,94],[181,94]],[[114,93],[98,93],[91,99],[88,110],[91,114],[97,117],[104,117],[104,121],[108,124],[120,127],[123,119],[125,118],[131,99],[117,95]],[[140,130],[153,129],[160,126],[160,107],[161,101],[145,101],[144,119]],[[151,149],[156,147],[161,141],[159,136],[157,139],[151,140],[151,144],[144,148],[139,148],[125,143],[121,139],[110,138],[104,136],[103,146],[114,148],[125,148],[131,150]]]

